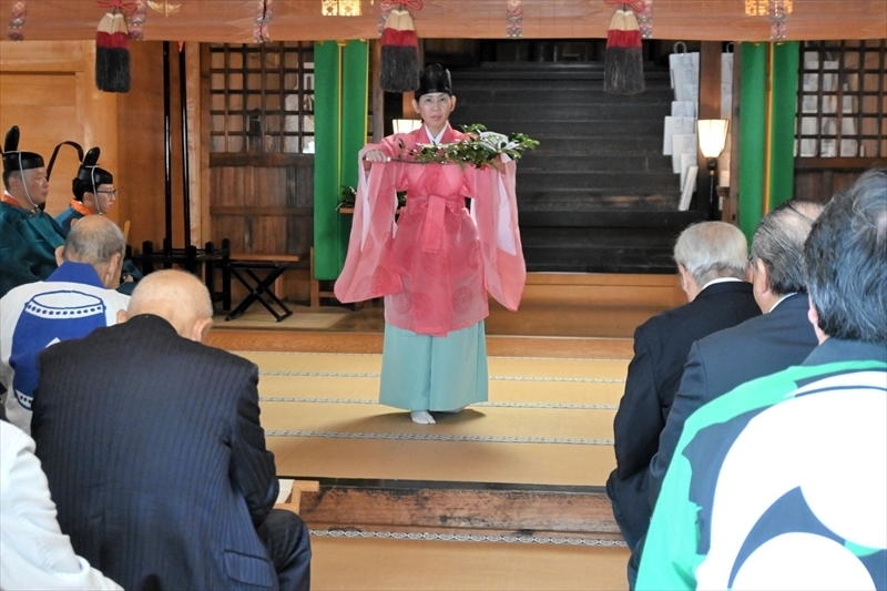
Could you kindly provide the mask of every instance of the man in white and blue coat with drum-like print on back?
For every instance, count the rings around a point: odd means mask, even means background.
[[[20,285],[0,298],[0,384],[10,422],[31,430],[37,357],[59,340],[116,323],[130,297],[114,291],[126,245],[106,217],[78,224],[68,235],[59,267],[45,282]]]

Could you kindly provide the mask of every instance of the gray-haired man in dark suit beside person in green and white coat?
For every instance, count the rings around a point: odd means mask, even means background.
[[[818,203],[788,201],[758,223],[752,240],[752,284],[764,314],[691,347],[650,465],[651,509],[690,415],[741,384],[799,365],[818,344],[807,318],[804,241],[822,211]]]

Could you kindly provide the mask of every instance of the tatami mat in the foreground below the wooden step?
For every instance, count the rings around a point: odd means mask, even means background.
[[[315,591],[621,590],[624,548],[313,537]]]

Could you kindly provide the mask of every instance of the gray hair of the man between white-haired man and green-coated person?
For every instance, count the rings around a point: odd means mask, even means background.
[[[807,292],[804,242],[823,207],[822,203],[813,201],[787,201],[757,224],[752,238],[752,263],[764,263],[769,275],[769,288],[775,294]]]

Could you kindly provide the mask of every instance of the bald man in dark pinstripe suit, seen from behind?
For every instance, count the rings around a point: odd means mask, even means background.
[[[308,532],[278,483],[258,370],[201,342],[203,284],[139,283],[129,319],[40,357],[38,457],[78,553],[124,589],[308,589]]]

